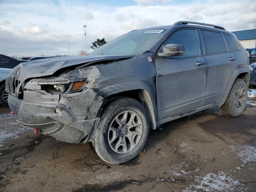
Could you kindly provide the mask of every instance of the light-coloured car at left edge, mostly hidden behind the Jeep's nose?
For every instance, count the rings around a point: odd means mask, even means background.
[[[0,68],[0,104],[8,107],[8,93],[5,90],[5,80],[12,69]]]

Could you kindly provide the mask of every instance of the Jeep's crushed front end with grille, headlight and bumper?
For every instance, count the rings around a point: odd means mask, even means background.
[[[69,143],[87,142],[98,125],[103,98],[91,87],[100,72],[90,66],[60,75],[20,78],[20,66],[6,79],[8,104],[18,121]]]

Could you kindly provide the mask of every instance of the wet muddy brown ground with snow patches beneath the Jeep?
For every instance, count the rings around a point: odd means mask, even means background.
[[[256,191],[256,100],[237,118],[212,108],[151,130],[145,153],[121,165],[15,120],[0,108],[1,192]]]

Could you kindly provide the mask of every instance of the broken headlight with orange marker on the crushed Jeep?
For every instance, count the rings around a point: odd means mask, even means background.
[[[42,90],[50,94],[64,94],[78,92],[89,84],[89,79],[79,79],[70,81],[52,81],[34,79],[26,83],[26,90]]]

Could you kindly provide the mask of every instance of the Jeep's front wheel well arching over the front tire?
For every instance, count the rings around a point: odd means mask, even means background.
[[[150,128],[156,129],[156,116],[154,112],[152,98],[150,97],[150,94],[148,93],[148,91],[144,89],[129,90],[129,91],[124,91],[124,92],[110,95],[107,98],[105,98],[105,102],[103,104],[103,107],[101,107],[100,111],[103,111],[104,108],[108,105],[108,103],[110,103],[112,100],[120,97],[129,97],[140,102],[146,108],[149,114]],[[98,114],[98,116],[100,116],[100,114]]]

